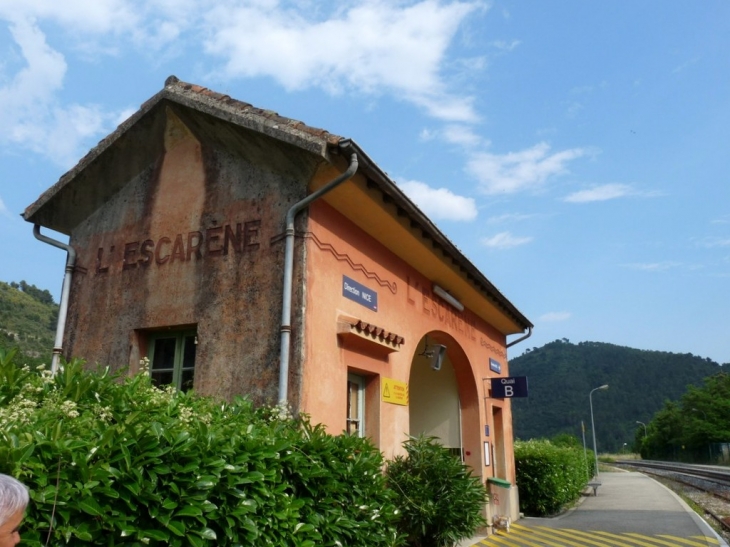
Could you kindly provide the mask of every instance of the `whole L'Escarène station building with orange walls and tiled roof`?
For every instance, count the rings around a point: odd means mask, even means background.
[[[170,77],[23,216],[68,252],[57,356],[435,436],[517,517],[490,382],[532,324],[354,141]]]

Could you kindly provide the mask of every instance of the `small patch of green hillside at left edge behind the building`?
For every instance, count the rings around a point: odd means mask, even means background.
[[[50,292],[25,281],[0,281],[0,349],[18,348],[29,365],[50,364],[57,320]]]

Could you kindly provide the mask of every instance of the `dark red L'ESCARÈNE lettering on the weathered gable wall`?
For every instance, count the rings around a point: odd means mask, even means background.
[[[164,266],[175,262],[202,260],[205,257],[226,256],[255,251],[259,248],[261,220],[250,220],[162,236],[157,239],[129,241],[115,252],[115,245],[108,249],[99,247],[96,253],[96,273],[105,274],[121,263],[122,270],[146,268],[152,264]]]

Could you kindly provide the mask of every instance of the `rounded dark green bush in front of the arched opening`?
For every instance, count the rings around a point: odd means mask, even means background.
[[[433,437],[411,437],[407,456],[386,470],[403,511],[400,530],[412,547],[444,547],[468,538],[486,524],[487,490],[468,467]]]

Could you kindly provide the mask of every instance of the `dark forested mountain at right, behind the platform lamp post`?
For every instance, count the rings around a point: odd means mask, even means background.
[[[529,396],[512,399],[515,437],[552,438],[560,433],[593,447],[589,394],[598,452],[633,446],[637,421],[648,423],[665,400],[678,400],[688,385],[701,386],[722,367],[710,359],[605,344],[556,340],[510,360],[510,376],[526,376]]]

